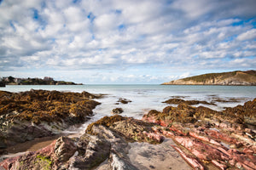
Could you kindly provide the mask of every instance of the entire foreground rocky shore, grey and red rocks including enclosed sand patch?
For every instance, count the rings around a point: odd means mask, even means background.
[[[42,150],[6,159],[0,167],[252,170],[256,131],[247,127],[244,116],[253,119],[255,101],[225,111],[181,103],[149,111],[143,120],[105,116],[79,139],[61,137]]]

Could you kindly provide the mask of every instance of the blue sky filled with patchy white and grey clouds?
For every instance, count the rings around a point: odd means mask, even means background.
[[[256,70],[255,0],[0,0],[0,77],[162,83]]]

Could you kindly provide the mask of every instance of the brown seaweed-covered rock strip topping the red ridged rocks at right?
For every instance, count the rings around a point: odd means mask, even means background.
[[[209,122],[217,126],[220,125],[236,129],[246,127],[245,120],[248,117],[251,122],[255,121],[256,102],[253,101],[249,101],[243,106],[239,105],[235,108],[227,108],[225,111],[213,111],[204,106],[193,107],[181,103],[177,107],[167,106],[162,112],[149,111],[148,114],[143,116],[143,120],[151,120],[151,122],[158,123],[166,122],[167,124],[172,122],[198,123],[199,125]]]

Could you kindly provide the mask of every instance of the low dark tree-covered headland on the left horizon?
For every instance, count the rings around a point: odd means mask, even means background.
[[[0,87],[5,87],[5,85],[82,85],[82,83],[55,81],[52,77],[44,77],[44,79],[2,77]]]

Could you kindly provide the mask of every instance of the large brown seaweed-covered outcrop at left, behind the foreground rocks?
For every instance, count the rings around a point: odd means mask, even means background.
[[[87,92],[31,90],[19,94],[0,91],[0,149],[61,133],[85,122],[99,105]]]

